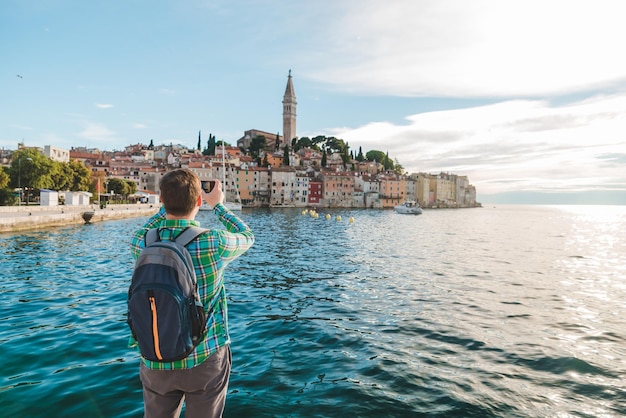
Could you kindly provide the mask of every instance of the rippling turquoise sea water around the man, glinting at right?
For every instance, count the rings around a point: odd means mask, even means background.
[[[626,207],[320,212],[242,214],[226,416],[626,414]],[[141,416],[143,221],[0,235],[0,416]]]

